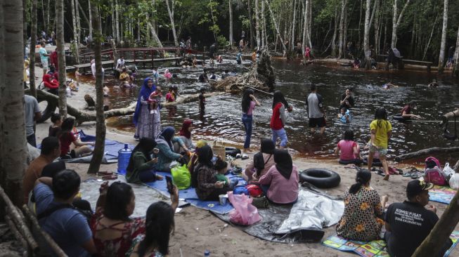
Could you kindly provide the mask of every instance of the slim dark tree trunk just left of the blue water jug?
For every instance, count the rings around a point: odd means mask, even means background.
[[[103,115],[103,81],[102,81],[102,58],[101,43],[103,39],[101,20],[97,0],[93,0],[91,8],[94,25],[94,55],[96,57],[96,145],[94,146],[93,157],[89,164],[88,173],[96,173],[101,167],[103,152],[105,150],[105,117]]]

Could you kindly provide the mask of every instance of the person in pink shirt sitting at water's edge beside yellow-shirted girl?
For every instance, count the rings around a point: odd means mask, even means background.
[[[340,164],[361,164],[360,147],[354,142],[354,131],[344,131],[344,139],[338,142],[335,154],[340,154]]]

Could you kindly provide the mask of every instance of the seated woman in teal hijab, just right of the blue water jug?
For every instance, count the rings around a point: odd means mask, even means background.
[[[178,137],[174,137],[174,134],[175,129],[172,128],[172,126],[168,126],[161,132],[160,136],[156,138],[156,147],[160,150],[157,154],[157,171],[170,172],[171,169],[169,165],[171,162],[182,157],[181,154],[174,152],[174,143],[184,145],[183,141]]]

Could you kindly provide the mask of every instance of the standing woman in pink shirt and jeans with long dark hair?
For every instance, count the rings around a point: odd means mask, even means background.
[[[245,89],[243,94],[243,124],[245,129],[244,152],[250,151],[250,138],[252,138],[252,113],[255,106],[260,106],[254,91],[250,88]]]

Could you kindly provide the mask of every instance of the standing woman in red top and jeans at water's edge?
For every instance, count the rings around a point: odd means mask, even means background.
[[[271,117],[271,130],[273,131],[273,142],[276,144],[278,138],[280,138],[280,149],[284,149],[287,145],[287,133],[285,133],[285,108],[289,112],[292,111],[285,100],[284,95],[280,91],[274,92],[273,95],[273,116]]]

